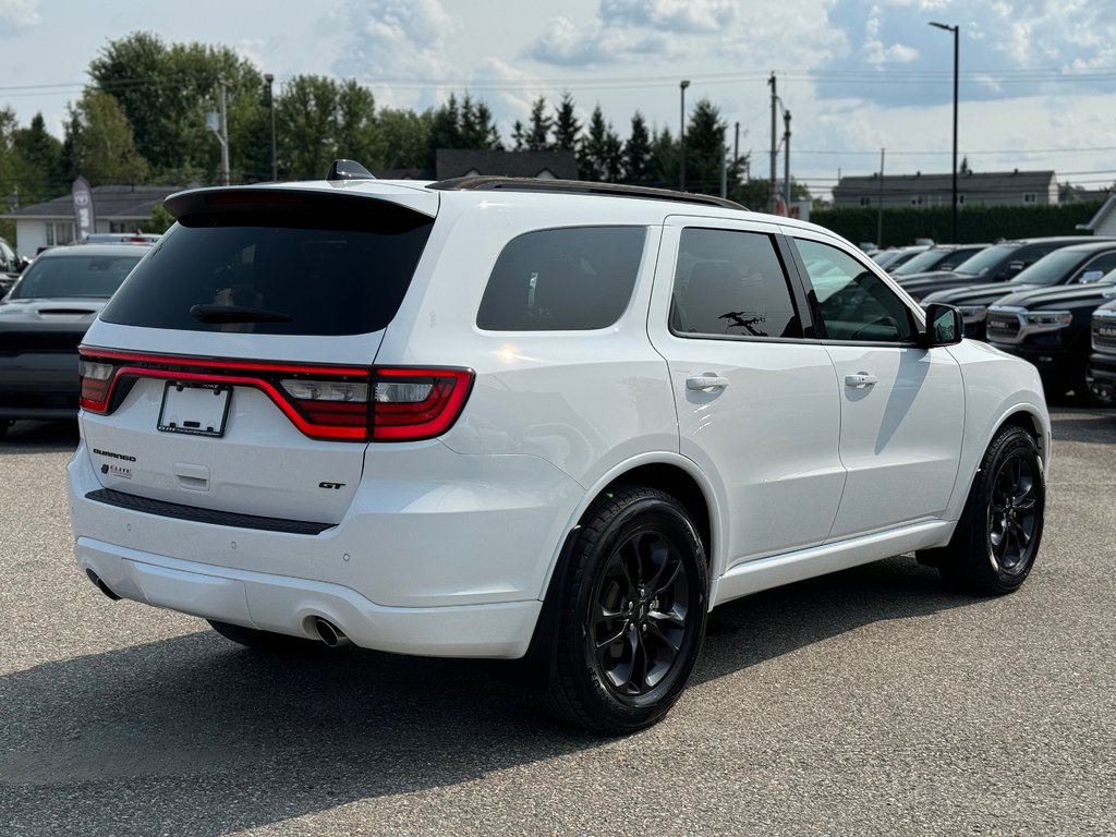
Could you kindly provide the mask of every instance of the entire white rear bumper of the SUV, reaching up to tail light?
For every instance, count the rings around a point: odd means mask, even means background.
[[[427,480],[425,456],[440,473],[460,461],[474,484]],[[345,519],[315,533],[106,503],[83,442],[68,465],[77,562],[121,597],[220,622],[316,638],[320,617],[367,648],[522,656],[583,489],[535,456],[427,443],[410,461],[363,480]]]

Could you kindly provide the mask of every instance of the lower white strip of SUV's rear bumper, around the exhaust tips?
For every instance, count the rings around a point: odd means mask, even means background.
[[[155,607],[318,638],[316,618],[356,645],[427,656],[517,658],[527,652],[542,603],[384,607],[336,584],[184,561],[78,538],[75,552],[109,590]]]

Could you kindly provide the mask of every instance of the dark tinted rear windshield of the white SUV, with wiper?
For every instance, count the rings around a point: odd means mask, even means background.
[[[407,210],[215,212],[180,219],[102,319],[276,335],[378,331],[395,316],[433,220]]]

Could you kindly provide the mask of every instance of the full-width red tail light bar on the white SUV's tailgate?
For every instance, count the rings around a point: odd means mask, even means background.
[[[81,347],[84,410],[112,413],[140,378],[259,389],[311,439],[413,442],[445,433],[461,415],[472,369],[270,364]]]

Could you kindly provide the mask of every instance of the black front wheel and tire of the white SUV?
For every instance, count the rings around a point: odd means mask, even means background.
[[[1046,477],[1035,440],[1020,427],[1004,427],[984,452],[950,543],[918,558],[968,593],[1017,590],[1035,566],[1045,507]]]

